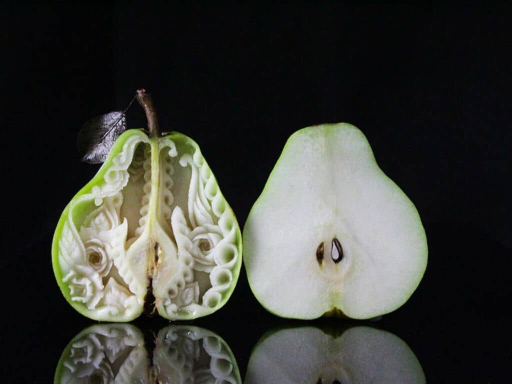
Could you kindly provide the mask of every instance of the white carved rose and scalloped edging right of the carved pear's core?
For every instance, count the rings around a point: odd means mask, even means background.
[[[214,309],[222,302],[223,294],[232,284],[232,269],[240,258],[237,247],[236,219],[201,152],[182,155],[179,164],[190,167],[188,189],[188,220],[183,211],[175,207],[171,226],[178,248],[178,259],[184,265],[182,274],[169,286],[169,300],[165,308],[175,315],[181,308],[201,303],[204,308]],[[191,285],[194,271],[208,272],[211,287],[199,300],[198,287]],[[181,283],[181,284],[180,284]],[[186,300],[183,300],[186,297]],[[191,300],[196,299],[197,300]],[[185,308],[183,308],[185,307]],[[194,311],[193,308],[189,309]]]

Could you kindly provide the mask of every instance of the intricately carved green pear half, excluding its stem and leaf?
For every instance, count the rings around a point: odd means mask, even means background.
[[[196,142],[129,130],[63,211],[52,262],[62,293],[87,317],[131,321],[147,301],[165,318],[190,319],[228,300],[241,234]]]

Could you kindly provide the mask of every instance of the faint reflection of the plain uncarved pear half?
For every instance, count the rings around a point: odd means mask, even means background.
[[[399,337],[370,327],[340,335],[290,328],[262,337],[251,354],[245,384],[426,382],[418,359]]]

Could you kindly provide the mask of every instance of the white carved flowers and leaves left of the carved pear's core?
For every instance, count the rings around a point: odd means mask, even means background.
[[[129,179],[127,169],[141,136],[126,140],[123,151],[112,161],[104,174],[104,184],[94,186],[70,205],[68,220],[59,239],[59,264],[62,282],[69,288],[71,300],[86,305],[98,313],[117,315],[135,299],[132,292],[109,275],[116,259],[122,259],[126,241],[127,223],[121,223],[119,210],[123,196],[120,190]],[[94,201],[98,207],[84,219],[78,231],[73,221],[73,208],[83,202]],[[119,241],[121,239],[121,241]],[[121,278],[129,280],[131,276]],[[103,280],[108,279],[106,284]]]

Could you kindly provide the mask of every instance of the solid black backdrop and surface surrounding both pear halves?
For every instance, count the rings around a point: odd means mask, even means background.
[[[0,13],[3,378],[51,382],[62,350],[94,324],[59,292],[51,238],[98,169],[77,158],[81,124],[144,87],[163,129],[199,143],[241,227],[290,134],[358,126],[429,242],[419,288],[373,326],[406,341],[429,382],[510,379],[509,7],[3,3]],[[129,124],[144,124],[136,105]],[[275,317],[242,270],[226,306],[191,323],[226,340],[243,377],[264,332],[325,322],[352,324]]]

